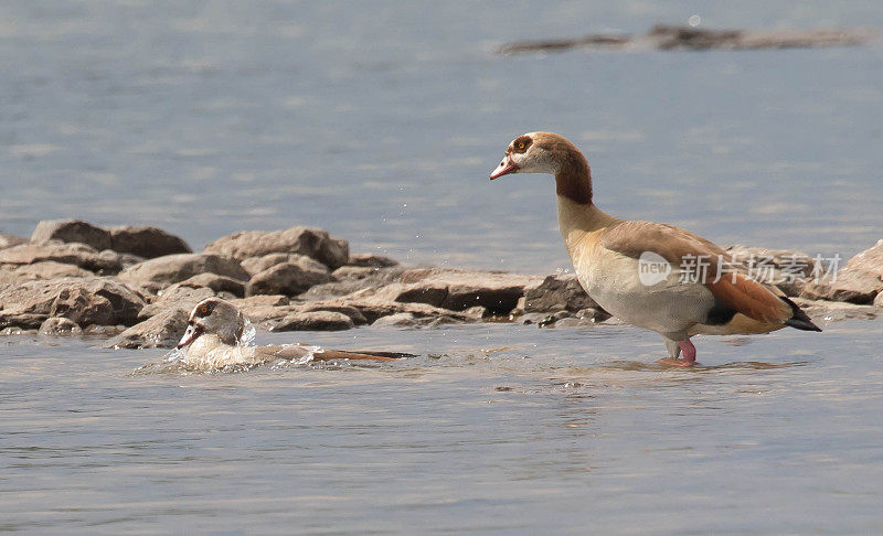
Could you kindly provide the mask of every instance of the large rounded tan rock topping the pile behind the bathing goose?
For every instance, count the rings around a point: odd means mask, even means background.
[[[244,260],[274,253],[301,254],[334,269],[350,258],[347,240],[332,238],[321,229],[304,226],[285,231],[247,231],[219,238],[205,246],[206,253],[216,253]]]

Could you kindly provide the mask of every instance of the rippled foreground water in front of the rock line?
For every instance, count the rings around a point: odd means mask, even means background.
[[[883,530],[880,321],[700,337],[695,371],[628,326],[258,335],[295,340],[438,355],[131,375],[164,351],[2,341],[0,527]]]

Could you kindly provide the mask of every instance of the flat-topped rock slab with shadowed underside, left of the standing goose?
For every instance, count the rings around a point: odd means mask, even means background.
[[[470,307],[481,305],[491,314],[508,314],[524,296],[525,287],[542,281],[536,276],[509,274],[502,271],[458,270],[446,268],[415,268],[406,270],[398,278],[402,283],[414,283],[408,294],[400,296],[396,301],[422,300],[437,298],[439,287],[447,289],[447,296],[436,307],[451,311],[462,311]],[[417,292],[424,288],[426,292]]]

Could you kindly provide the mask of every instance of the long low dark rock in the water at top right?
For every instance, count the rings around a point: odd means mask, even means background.
[[[851,46],[872,41],[879,33],[872,29],[811,30],[705,30],[692,26],[657,24],[646,34],[589,34],[574,39],[515,41],[498,49],[499,54],[562,52],[572,49],[624,51],[708,51],[808,49]]]

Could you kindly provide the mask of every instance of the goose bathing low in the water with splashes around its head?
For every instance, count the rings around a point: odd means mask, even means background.
[[[208,298],[196,303],[187,331],[178,343],[179,362],[200,371],[231,365],[254,366],[273,360],[288,361],[395,361],[411,354],[393,352],[348,352],[300,344],[248,346],[243,344],[245,315],[232,303]]]

